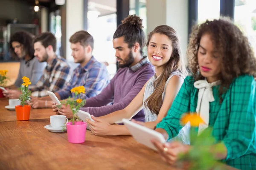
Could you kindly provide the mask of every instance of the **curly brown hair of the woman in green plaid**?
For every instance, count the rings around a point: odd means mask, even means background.
[[[189,38],[187,55],[195,81],[204,79],[199,71],[197,57],[200,40],[204,34],[211,36],[213,48],[218,51],[218,56],[221,59],[219,97],[222,102],[221,95],[230,87],[235,77],[241,74],[256,77],[256,58],[247,37],[229,18],[207,20],[205,23],[194,26]]]

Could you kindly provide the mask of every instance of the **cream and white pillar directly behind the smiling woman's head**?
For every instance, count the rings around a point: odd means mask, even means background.
[[[147,34],[156,26],[168,25],[179,37],[181,52],[185,61],[188,44],[188,4],[189,0],[147,0]]]

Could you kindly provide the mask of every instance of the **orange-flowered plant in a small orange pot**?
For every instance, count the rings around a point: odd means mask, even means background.
[[[22,92],[20,95],[20,104],[15,106],[17,120],[29,120],[30,116],[30,105],[26,105],[26,101],[30,101],[31,92],[28,90],[28,86],[31,85],[29,78],[23,77],[23,84],[20,86],[19,90]]]

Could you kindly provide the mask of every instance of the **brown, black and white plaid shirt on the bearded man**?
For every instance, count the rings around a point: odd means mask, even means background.
[[[71,68],[63,58],[55,57],[47,63],[41,79],[35,86],[29,86],[32,96],[43,97],[46,91],[58,91],[70,81]]]

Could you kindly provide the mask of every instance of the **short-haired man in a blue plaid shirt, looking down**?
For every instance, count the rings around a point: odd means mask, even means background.
[[[110,78],[106,65],[93,57],[93,37],[87,31],[78,31],[70,37],[70,43],[74,62],[80,65],[74,70],[70,81],[63,88],[55,91],[55,95],[60,100],[67,99],[69,96],[75,97],[70,90],[84,86],[86,91],[81,94],[81,99],[96,96],[108,85]],[[35,51],[37,51],[36,48]],[[32,99],[31,105],[33,108],[51,108],[51,102],[47,102],[49,100],[51,100],[49,96]]]

